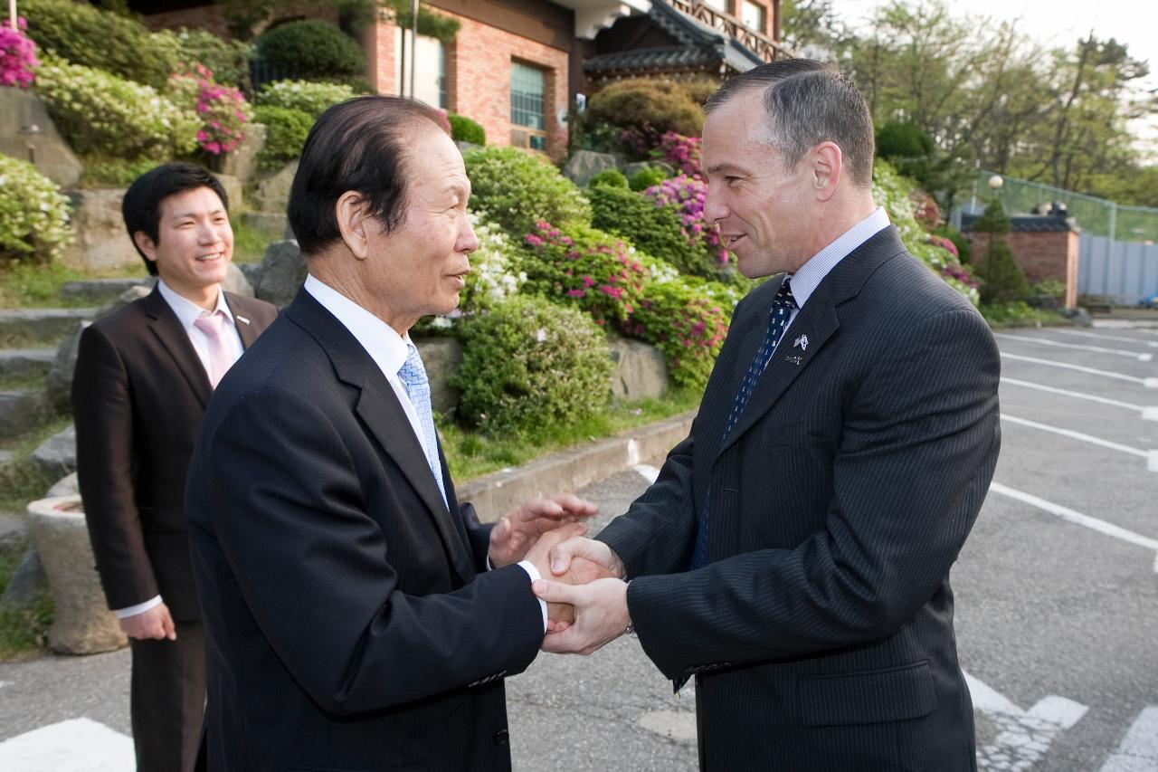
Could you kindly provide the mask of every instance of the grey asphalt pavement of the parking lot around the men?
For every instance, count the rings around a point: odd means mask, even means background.
[[[1158,329],[998,344],[1001,460],[952,573],[979,765],[1158,772]],[[652,474],[581,493],[606,523]],[[131,769],[127,670],[126,651],[0,664],[0,770]],[[696,769],[694,693],[637,640],[543,655],[507,694],[520,772]]]

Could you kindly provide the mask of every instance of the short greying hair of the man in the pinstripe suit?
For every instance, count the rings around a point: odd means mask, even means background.
[[[794,169],[820,143],[833,141],[844,155],[853,184],[872,184],[872,116],[851,78],[812,59],[770,61],[725,82],[704,109],[711,112],[738,94],[760,88],[768,114],[763,141],[783,154],[786,169]]]

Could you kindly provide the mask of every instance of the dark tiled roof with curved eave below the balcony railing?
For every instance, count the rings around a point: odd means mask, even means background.
[[[763,59],[732,36],[666,2],[652,2],[647,16],[680,45],[600,53],[584,61],[584,70],[589,73],[706,70],[723,64],[735,72],[747,72],[763,64]]]

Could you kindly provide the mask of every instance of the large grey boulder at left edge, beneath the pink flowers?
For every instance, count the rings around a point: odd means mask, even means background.
[[[83,166],[64,140],[35,92],[0,88],[0,153],[28,160],[61,188],[80,180]]]

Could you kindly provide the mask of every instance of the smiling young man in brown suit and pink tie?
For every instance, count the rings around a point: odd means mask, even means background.
[[[228,201],[190,163],[141,175],[123,203],[156,287],[80,338],[76,463],[96,567],[132,646],[139,770],[191,770],[205,711],[205,650],[185,529],[189,458],[225,371],[273,321],[221,290]]]

